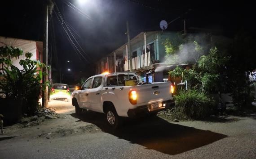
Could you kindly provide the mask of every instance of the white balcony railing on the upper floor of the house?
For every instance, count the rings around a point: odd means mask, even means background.
[[[137,70],[151,65],[150,52],[132,58],[132,69]],[[129,61],[124,63],[124,71],[130,70]]]

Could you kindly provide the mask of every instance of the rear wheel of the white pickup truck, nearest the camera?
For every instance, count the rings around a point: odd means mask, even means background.
[[[106,121],[113,129],[117,129],[122,125],[121,118],[117,115],[113,106],[108,106],[106,109]]]

